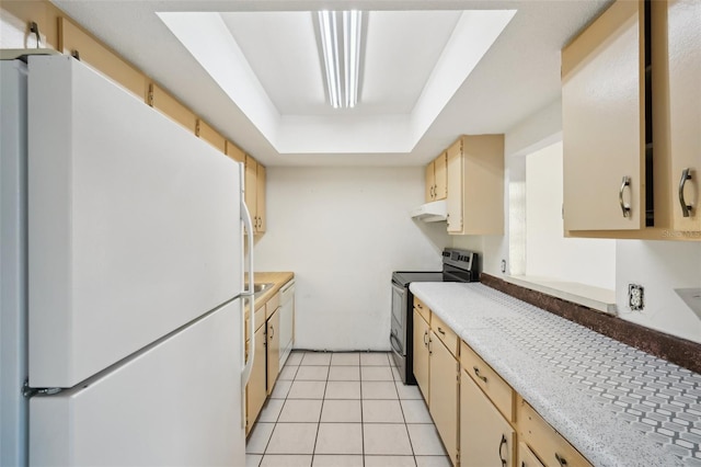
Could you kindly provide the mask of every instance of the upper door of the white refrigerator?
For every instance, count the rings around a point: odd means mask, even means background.
[[[67,388],[241,292],[241,164],[72,57],[28,69],[30,385]]]

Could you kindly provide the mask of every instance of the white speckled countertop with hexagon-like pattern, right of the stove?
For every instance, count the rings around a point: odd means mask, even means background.
[[[483,284],[410,288],[595,466],[701,467],[701,375]]]

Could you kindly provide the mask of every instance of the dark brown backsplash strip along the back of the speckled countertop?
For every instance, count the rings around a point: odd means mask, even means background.
[[[600,334],[692,372],[701,373],[701,344],[697,342],[646,328],[541,292],[531,291],[489,274],[481,274],[480,282]]]

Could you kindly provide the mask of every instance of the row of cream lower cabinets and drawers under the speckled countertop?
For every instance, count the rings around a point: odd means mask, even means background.
[[[413,319],[414,376],[453,466],[591,467],[416,297]]]

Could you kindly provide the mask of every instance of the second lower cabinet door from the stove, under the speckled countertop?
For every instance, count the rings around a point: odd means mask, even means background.
[[[452,353],[430,331],[430,415],[452,465],[458,465],[458,375],[460,365]]]

